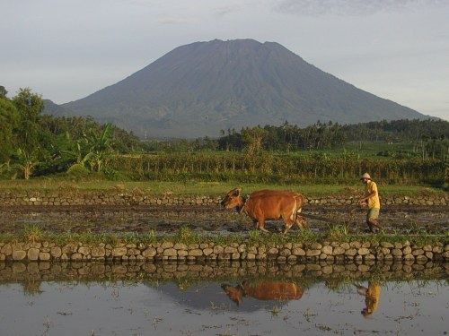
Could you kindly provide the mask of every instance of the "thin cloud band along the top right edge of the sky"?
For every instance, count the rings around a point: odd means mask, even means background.
[[[275,10],[304,16],[372,15],[379,12],[414,11],[447,4],[447,0],[280,0]]]

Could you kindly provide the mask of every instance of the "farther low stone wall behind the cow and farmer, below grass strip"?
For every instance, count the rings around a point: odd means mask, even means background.
[[[164,196],[145,195],[139,191],[132,193],[0,193],[0,206],[92,206],[92,205],[218,205],[221,196]],[[356,196],[321,196],[309,197],[306,203],[318,205],[357,204]],[[428,194],[410,196],[386,196],[382,198],[384,205],[426,205],[448,206],[449,194]]]

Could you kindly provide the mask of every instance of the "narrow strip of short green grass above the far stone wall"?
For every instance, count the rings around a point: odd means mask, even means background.
[[[379,183],[381,195],[444,194],[441,189],[423,185],[383,185]],[[132,182],[108,181],[104,179],[71,181],[68,178],[36,178],[31,180],[1,180],[0,192],[15,193],[138,193],[151,195],[223,195],[236,187],[244,194],[262,189],[293,190],[306,196],[332,194],[361,194],[364,185],[355,178],[351,185],[269,185],[242,184],[233,182]]]

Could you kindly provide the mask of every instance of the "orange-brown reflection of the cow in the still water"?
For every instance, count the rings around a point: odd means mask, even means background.
[[[286,301],[303,297],[304,289],[293,282],[286,281],[261,281],[250,284],[243,281],[237,286],[223,284],[227,296],[237,305],[242,303],[242,297],[254,297],[258,300]]]

